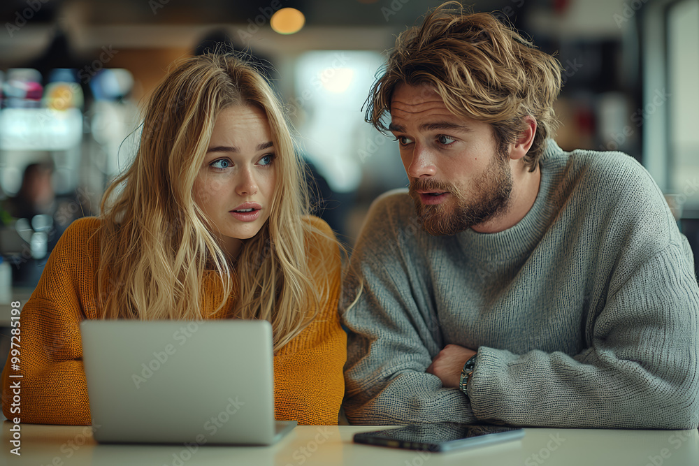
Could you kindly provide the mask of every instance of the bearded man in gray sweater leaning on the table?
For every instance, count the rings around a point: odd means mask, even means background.
[[[691,249],[634,159],[551,139],[560,69],[460,8],[398,37],[366,119],[410,189],[352,254],[351,423],[699,424]]]

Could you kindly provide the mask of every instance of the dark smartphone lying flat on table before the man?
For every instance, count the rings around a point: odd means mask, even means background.
[[[452,451],[508,442],[522,437],[524,429],[521,428],[442,422],[359,432],[354,434],[354,443],[409,450]]]

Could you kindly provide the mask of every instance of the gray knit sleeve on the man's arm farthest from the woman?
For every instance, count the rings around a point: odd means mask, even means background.
[[[639,170],[626,184],[600,241],[604,265],[581,322],[586,348],[517,355],[480,347],[468,388],[478,418],[568,428],[699,424],[693,258],[647,173]]]

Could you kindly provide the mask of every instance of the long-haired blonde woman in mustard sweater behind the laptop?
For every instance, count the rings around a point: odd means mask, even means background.
[[[19,373],[23,422],[90,423],[82,319],[265,319],[275,417],[337,423],[340,255],[307,208],[266,80],[232,55],[181,61],[152,94],[136,159],[101,215],[69,227],[24,305],[22,366],[3,371],[5,416],[16,416],[8,375]]]

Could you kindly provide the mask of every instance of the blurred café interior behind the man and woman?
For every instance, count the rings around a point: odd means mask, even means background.
[[[317,214],[352,247],[370,202],[407,184],[396,143],[363,122],[363,103],[395,36],[439,3],[3,0],[0,283],[10,273],[31,290],[62,231],[98,214],[128,166],[168,66],[218,42],[269,64],[317,183]],[[465,4],[556,54],[559,145],[643,163],[698,250],[699,0]]]

